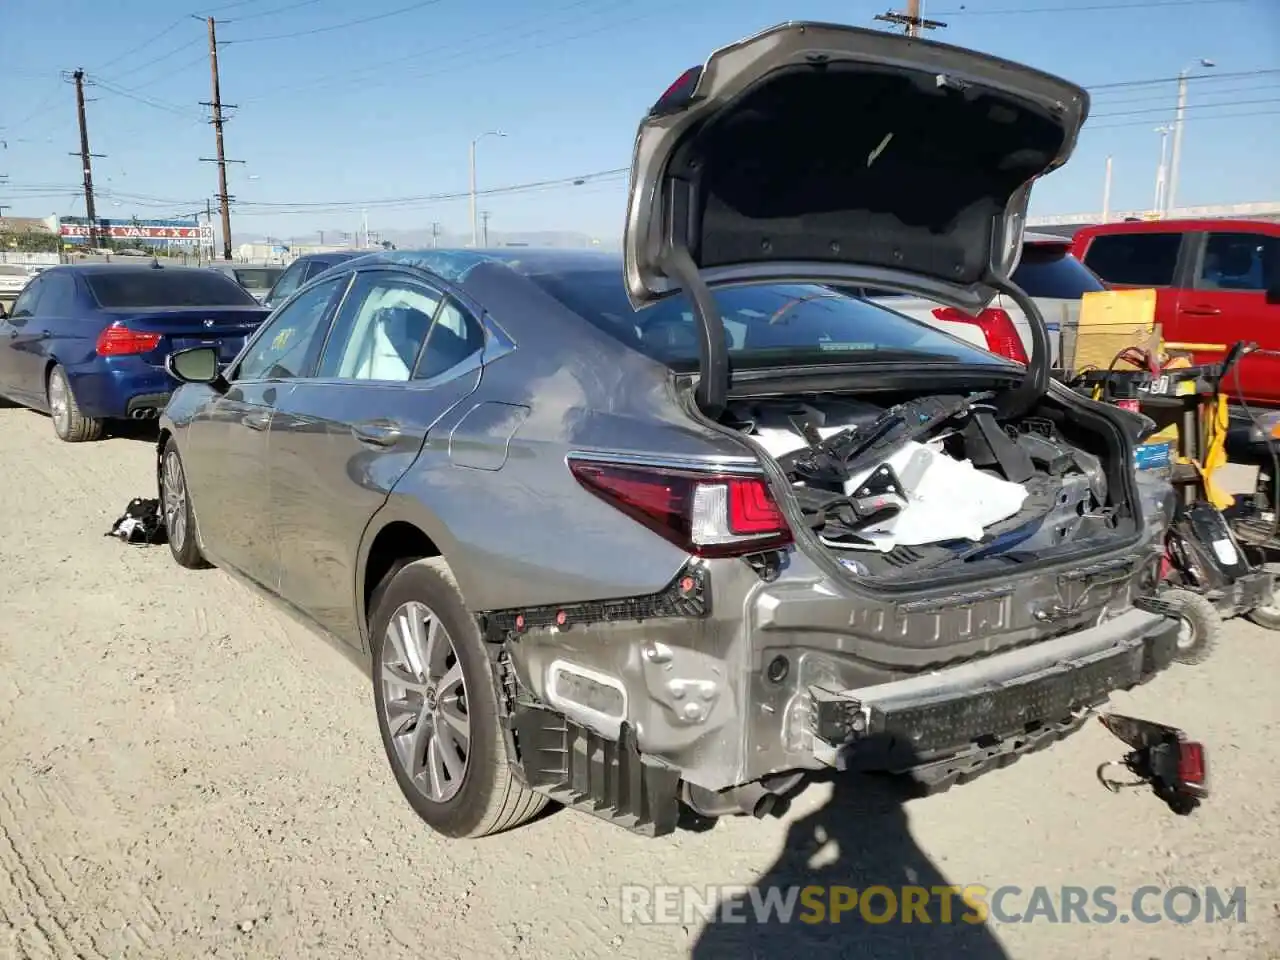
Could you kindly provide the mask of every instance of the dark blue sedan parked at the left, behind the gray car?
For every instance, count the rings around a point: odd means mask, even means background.
[[[159,416],[177,387],[169,353],[214,347],[229,362],[269,314],[211,270],[55,266],[0,316],[0,397],[50,413],[63,440],[96,440],[109,420]]]

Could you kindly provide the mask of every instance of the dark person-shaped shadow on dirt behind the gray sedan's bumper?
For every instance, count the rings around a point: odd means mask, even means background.
[[[947,895],[934,888],[952,881],[911,838],[904,803],[914,785],[851,773],[831,783],[831,800],[791,824],[778,860],[748,896],[735,897],[735,908],[707,923],[690,956],[1007,960],[959,890],[943,910]],[[791,891],[799,895],[790,922],[778,922],[777,911],[768,919],[771,893],[785,902]],[[920,905],[914,914],[904,904],[913,896]]]

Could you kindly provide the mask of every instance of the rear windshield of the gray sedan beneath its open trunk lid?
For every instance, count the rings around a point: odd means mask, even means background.
[[[631,308],[620,274],[604,270],[531,275],[575,314],[654,360],[698,364],[698,332],[689,301],[672,297]],[[810,284],[733,287],[716,292],[730,353],[740,362],[849,361],[876,355],[1002,365],[1005,361],[874,303]]]

